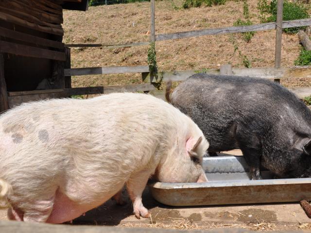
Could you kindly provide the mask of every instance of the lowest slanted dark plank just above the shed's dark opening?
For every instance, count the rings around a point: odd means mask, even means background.
[[[26,57],[47,58],[58,61],[65,61],[65,52],[58,52],[36,47],[19,45],[11,42],[0,41],[0,52],[12,53]]]

